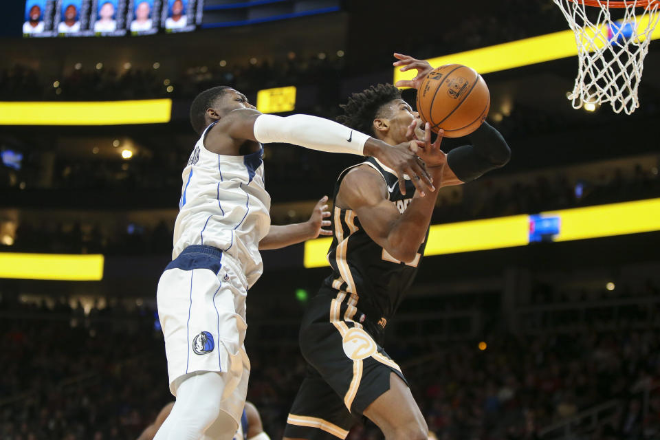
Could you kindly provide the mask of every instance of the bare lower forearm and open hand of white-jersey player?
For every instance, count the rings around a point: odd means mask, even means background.
[[[271,226],[268,234],[259,241],[259,250],[285,248],[306,240],[316,239],[319,235],[332,235],[332,232],[323,229],[329,226],[330,221],[325,220],[330,217],[328,210],[328,196],[323,196],[314,210],[311,217],[304,223],[293,223],[284,226]]]

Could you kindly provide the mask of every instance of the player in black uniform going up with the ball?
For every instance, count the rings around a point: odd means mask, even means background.
[[[417,69],[415,80],[399,86],[417,88],[432,70],[425,61],[395,56],[395,65]],[[382,347],[384,329],[417,273],[438,189],[504,166],[509,146],[484,122],[469,136],[470,145],[443,153],[442,133],[431,143],[428,124],[422,131],[418,113],[392,85],[353,94],[342,108],[342,124],[387,144],[424,140],[417,154],[437,189],[420,197],[408,180],[404,195],[394,171],[373,158],[340,174],[328,254],[332,274],[303,316],[300,349],[307,375],[289,413],[285,440],[344,439],[362,415],[387,440],[426,440],[426,421],[401,369]]]

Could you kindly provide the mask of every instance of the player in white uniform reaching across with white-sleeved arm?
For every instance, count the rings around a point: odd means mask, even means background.
[[[423,142],[391,146],[314,116],[263,115],[230,87],[199,94],[190,122],[200,138],[182,175],[173,261],[157,290],[170,391],[177,400],[155,440],[229,440],[248,388],[245,296],[261,276],[259,250],[314,238],[323,225],[270,225],[262,144],[373,156],[395,170],[402,191],[404,175],[422,194],[434,187],[415,155]]]

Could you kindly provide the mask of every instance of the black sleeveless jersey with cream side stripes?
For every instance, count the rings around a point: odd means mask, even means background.
[[[337,198],[344,176],[360,165],[369,165],[377,170],[385,180],[388,196],[401,214],[415,195],[415,186],[406,180],[406,195],[399,190],[399,179],[391,168],[369,157],[366,161],[344,170],[335,185],[333,201]],[[333,208],[331,216],[333,239],[328,252],[332,274],[323,284],[358,297],[356,307],[372,322],[384,328],[393,316],[408,287],[417,274],[417,266],[426,246],[426,239],[419,247],[417,257],[410,263],[403,263],[391,256],[384,248],[364,232],[360,219],[350,209]],[[428,238],[428,231],[426,232]]]

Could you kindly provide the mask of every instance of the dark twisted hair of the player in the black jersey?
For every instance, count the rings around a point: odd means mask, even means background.
[[[391,84],[379,84],[351,95],[349,102],[341,104],[344,114],[337,122],[362,133],[375,135],[373,120],[381,116],[382,107],[395,99],[401,98],[401,91]]]

